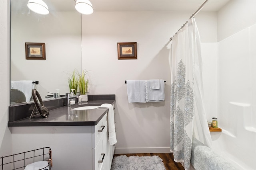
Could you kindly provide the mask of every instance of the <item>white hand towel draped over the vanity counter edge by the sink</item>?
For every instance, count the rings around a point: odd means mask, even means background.
[[[116,144],[116,131],[114,120],[114,108],[112,104],[102,104],[100,107],[108,108],[108,139],[110,145]]]

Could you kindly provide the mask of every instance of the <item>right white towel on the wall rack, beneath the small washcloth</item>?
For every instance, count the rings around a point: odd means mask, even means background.
[[[150,90],[149,80],[146,80],[146,102],[162,102],[164,101],[164,80],[160,81],[160,88]]]

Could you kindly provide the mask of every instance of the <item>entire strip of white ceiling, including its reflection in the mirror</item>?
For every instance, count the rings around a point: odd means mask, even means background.
[[[28,0],[12,0],[12,10],[26,10]],[[169,11],[194,13],[205,0],[90,0],[98,11]],[[202,12],[217,12],[229,0],[209,0]],[[75,11],[74,0],[44,0],[50,11]]]

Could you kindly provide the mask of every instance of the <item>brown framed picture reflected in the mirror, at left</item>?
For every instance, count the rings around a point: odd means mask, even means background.
[[[25,43],[26,60],[45,60],[45,43]]]

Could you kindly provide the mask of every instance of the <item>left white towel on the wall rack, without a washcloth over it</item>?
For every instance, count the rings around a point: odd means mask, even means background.
[[[145,80],[127,80],[127,96],[129,103],[146,103]]]

